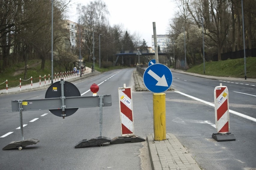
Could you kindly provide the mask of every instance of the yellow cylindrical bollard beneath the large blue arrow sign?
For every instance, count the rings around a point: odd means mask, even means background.
[[[165,93],[153,94],[154,140],[166,140]]]

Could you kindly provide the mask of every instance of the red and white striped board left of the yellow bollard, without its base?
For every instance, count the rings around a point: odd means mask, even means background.
[[[118,88],[122,136],[134,135],[131,87]]]

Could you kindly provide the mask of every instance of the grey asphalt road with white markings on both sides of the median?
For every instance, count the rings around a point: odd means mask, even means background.
[[[134,86],[132,72],[113,70],[72,82],[81,94],[93,83],[100,84],[97,94],[111,94],[112,106],[103,107],[102,136],[120,136],[118,87],[124,83],[126,87]],[[166,133],[174,134],[202,169],[256,169],[256,122],[230,114],[230,132],[236,141],[216,142],[212,139],[212,133],[216,133],[214,107],[183,95],[213,103],[214,88],[220,83],[228,87],[231,110],[256,118],[255,83],[220,82],[173,73],[175,91],[165,92]],[[0,147],[21,139],[20,130],[16,130],[20,127],[19,112],[11,111],[11,100],[44,98],[45,91],[0,96],[0,136],[13,132],[0,138]],[[152,92],[133,91],[132,97],[135,134],[145,139],[154,132]],[[99,136],[98,107],[78,109],[65,119],[49,111],[23,112],[23,124],[27,124],[24,138],[40,142],[21,151],[0,150],[0,169],[150,169],[145,142],[74,148],[82,139]]]

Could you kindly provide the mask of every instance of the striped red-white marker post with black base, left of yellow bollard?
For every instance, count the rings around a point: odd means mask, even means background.
[[[119,94],[119,108],[120,108],[120,122],[121,135],[111,140],[111,144],[120,144],[125,142],[143,142],[145,139],[134,135],[133,124],[133,102],[131,87],[118,88]]]

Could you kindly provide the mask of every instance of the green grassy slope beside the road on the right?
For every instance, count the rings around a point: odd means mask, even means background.
[[[194,66],[187,72],[203,74],[203,64]],[[244,58],[205,63],[205,75],[224,77],[244,77]],[[247,78],[256,78],[256,57],[246,58]]]

